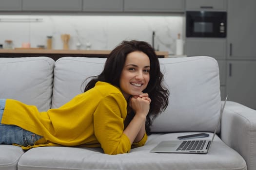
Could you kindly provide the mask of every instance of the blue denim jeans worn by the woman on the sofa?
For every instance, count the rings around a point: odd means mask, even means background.
[[[11,145],[15,143],[22,146],[33,146],[42,136],[15,125],[1,124],[5,101],[5,99],[0,99],[0,144]]]

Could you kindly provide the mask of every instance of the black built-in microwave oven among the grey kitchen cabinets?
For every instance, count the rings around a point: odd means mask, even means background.
[[[187,11],[186,37],[226,37],[227,13]]]

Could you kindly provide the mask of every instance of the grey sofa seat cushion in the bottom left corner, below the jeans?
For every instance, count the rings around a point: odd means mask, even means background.
[[[23,150],[18,146],[0,145],[0,170],[17,170]]]

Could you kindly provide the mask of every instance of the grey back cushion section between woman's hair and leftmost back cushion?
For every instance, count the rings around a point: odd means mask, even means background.
[[[90,76],[97,76],[106,58],[62,57],[55,63],[52,108],[58,108],[83,92]]]

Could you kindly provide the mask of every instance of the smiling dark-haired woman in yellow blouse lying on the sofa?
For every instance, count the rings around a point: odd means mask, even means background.
[[[0,100],[0,144],[101,147],[128,153],[143,146],[153,119],[168,104],[158,58],[143,41],[123,41],[108,56],[101,74],[84,93],[57,109]]]

